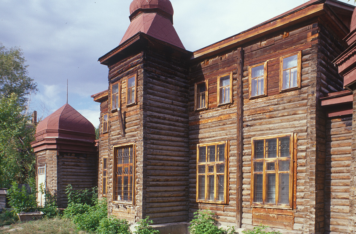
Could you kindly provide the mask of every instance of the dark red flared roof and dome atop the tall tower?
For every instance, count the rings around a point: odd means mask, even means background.
[[[133,0],[130,4],[130,26],[120,44],[138,32],[146,33],[185,49],[173,27],[173,7],[169,0]]]

